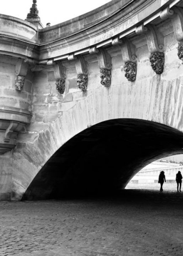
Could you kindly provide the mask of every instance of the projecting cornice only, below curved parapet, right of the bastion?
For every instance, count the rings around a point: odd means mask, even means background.
[[[153,21],[160,16],[161,10],[170,4],[176,4],[176,2],[170,0],[162,5],[160,0],[133,1],[130,5],[125,6],[124,10],[120,9],[117,13],[85,30],[52,43],[40,44],[40,63],[44,63],[43,60],[48,55],[49,58],[54,60],[66,59],[69,53],[75,52],[76,55],[77,52],[82,50],[82,53],[87,53],[91,46],[105,46],[111,43],[112,38],[115,36],[119,35],[122,38],[132,32],[135,33],[139,24],[147,24]],[[49,28],[49,31],[51,28]]]

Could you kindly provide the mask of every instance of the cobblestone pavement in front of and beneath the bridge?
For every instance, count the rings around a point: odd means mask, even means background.
[[[0,256],[182,256],[183,193],[0,202]]]

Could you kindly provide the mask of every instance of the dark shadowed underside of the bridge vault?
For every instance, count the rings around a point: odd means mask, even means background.
[[[111,193],[150,162],[183,152],[183,133],[141,119],[112,119],[75,135],[56,151],[22,199]]]

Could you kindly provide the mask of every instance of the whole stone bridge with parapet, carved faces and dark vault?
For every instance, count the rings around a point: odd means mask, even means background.
[[[0,15],[0,199],[111,193],[183,153],[183,1],[112,0],[43,28]]]

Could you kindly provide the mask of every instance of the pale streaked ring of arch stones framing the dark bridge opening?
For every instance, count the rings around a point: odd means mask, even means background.
[[[116,76],[120,80],[121,76]],[[33,118],[41,116],[44,122],[32,122],[28,133],[18,135],[12,171],[14,200],[21,200],[36,175],[62,145],[90,126],[111,119],[142,119],[180,132],[183,127],[181,83],[179,79],[160,80],[157,75],[135,84],[119,81],[109,88],[98,86],[82,93],[81,98],[77,94],[77,99],[59,106],[56,112],[35,113]]]

